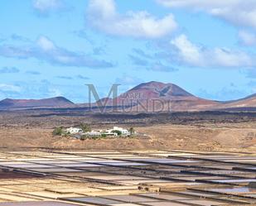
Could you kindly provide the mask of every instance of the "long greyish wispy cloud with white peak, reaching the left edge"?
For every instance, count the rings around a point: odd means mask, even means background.
[[[2,45],[0,46],[0,55],[19,59],[36,58],[52,65],[88,67],[93,69],[113,67],[113,64],[108,61],[95,60],[89,55],[56,46],[46,36],[40,36],[36,42],[27,46]]]

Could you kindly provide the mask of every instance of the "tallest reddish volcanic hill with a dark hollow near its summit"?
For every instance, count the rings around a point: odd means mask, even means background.
[[[156,81],[139,84],[120,94],[118,98],[103,98],[100,101],[109,107],[117,103],[119,110],[126,108],[125,111],[133,112],[197,111],[214,108],[220,104],[197,98],[176,84]]]

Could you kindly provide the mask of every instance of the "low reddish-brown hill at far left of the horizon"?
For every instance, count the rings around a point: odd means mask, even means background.
[[[0,101],[0,109],[18,108],[67,108],[74,107],[74,103],[64,97],[43,99],[12,99],[5,98]]]

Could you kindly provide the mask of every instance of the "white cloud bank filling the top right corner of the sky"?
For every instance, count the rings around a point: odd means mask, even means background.
[[[208,12],[239,26],[256,27],[255,0],[156,0],[165,7],[186,7]]]

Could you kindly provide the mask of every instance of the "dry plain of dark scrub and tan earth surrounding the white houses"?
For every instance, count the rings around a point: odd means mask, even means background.
[[[182,114],[183,115],[183,114]],[[169,117],[170,115],[168,115]],[[182,149],[201,151],[255,151],[256,121],[251,117],[216,117],[208,114],[205,119],[193,114],[175,120],[162,115],[136,118],[127,122],[129,117],[114,122],[108,115],[104,117],[76,115],[75,113],[18,112],[0,114],[0,146],[12,149],[20,147],[46,147],[61,149]],[[189,118],[189,120],[188,120]],[[237,119],[236,119],[237,118]],[[106,121],[106,120],[109,120]],[[124,121],[125,119],[125,121]],[[112,121],[112,122],[111,122]],[[54,127],[73,126],[79,122],[89,122],[93,128],[134,127],[148,137],[109,138],[100,140],[80,141],[71,137],[53,137]]]

